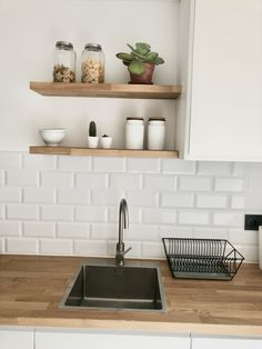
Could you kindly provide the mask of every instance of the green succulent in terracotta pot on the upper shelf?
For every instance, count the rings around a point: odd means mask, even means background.
[[[130,83],[152,83],[154,67],[164,63],[158,52],[152,52],[147,42],[137,42],[135,47],[127,43],[130,53],[119,52],[117,58],[128,66]]]

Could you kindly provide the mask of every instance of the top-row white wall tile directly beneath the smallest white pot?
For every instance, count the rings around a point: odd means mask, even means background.
[[[92,170],[97,172],[123,172],[124,158],[92,158]]]

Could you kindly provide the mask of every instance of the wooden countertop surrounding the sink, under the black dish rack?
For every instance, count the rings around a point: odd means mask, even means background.
[[[88,258],[0,256],[0,325],[262,336],[262,271],[242,265],[232,281],[173,279],[160,261],[168,310],[59,309]]]

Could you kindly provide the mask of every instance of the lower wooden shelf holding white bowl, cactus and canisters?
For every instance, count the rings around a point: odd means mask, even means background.
[[[128,150],[128,149],[90,149],[74,147],[39,147],[31,146],[30,153],[53,154],[53,156],[74,156],[74,157],[129,157],[129,158],[173,158],[178,159],[177,150]]]

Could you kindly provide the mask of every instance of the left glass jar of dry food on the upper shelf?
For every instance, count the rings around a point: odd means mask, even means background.
[[[68,41],[57,41],[53,58],[53,82],[75,82],[77,53]]]

